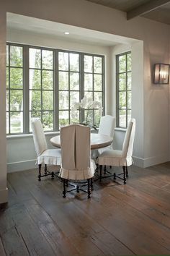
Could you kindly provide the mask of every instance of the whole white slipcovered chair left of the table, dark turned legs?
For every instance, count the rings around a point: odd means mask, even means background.
[[[61,165],[61,149],[48,149],[42,123],[39,119],[32,120],[31,127],[35,151],[37,153],[36,164],[39,166],[39,174],[37,178],[39,181],[43,176],[51,175],[53,178],[55,173],[53,171],[48,171],[47,165]],[[44,175],[41,174],[42,163],[45,164]]]

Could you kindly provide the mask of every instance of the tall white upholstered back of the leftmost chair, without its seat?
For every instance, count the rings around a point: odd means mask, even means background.
[[[32,135],[35,143],[35,151],[37,156],[41,155],[45,150],[48,149],[47,142],[40,119],[31,121]]]

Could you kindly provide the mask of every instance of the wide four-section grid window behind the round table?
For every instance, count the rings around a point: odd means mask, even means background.
[[[99,124],[99,110],[71,107],[87,95],[104,106],[104,56],[51,48],[6,46],[6,133],[31,131],[40,118],[46,132],[79,123]]]

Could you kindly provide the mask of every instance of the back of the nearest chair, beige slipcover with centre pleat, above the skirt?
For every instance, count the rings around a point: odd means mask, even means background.
[[[62,168],[82,171],[90,167],[90,128],[79,124],[61,127]]]

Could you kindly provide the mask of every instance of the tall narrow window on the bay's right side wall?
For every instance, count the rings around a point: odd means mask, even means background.
[[[126,128],[131,119],[131,53],[116,56],[117,127]]]

